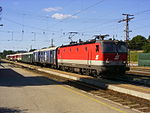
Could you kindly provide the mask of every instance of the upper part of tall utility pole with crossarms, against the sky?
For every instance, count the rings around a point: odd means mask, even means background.
[[[125,19],[122,19],[122,20],[119,20],[118,23],[121,23],[121,22],[126,22],[125,24],[125,40],[126,42],[129,40],[129,32],[132,32],[129,30],[129,21],[134,19],[134,17],[131,17],[130,16],[134,16],[134,15],[131,15],[131,14],[122,14],[125,16]]]

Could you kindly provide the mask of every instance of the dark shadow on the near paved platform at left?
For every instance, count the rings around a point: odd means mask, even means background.
[[[0,69],[0,86],[22,87],[59,84],[43,76],[25,77],[12,69]]]

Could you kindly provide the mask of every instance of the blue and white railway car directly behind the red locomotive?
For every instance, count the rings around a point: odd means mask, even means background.
[[[56,48],[51,47],[34,51],[34,62],[42,65],[56,66]]]

